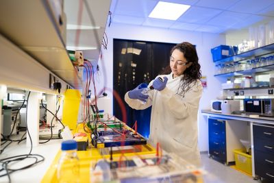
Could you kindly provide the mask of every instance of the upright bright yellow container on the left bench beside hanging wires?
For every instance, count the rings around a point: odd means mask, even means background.
[[[67,89],[64,93],[63,120],[64,125],[68,125],[71,130],[77,126],[77,117],[81,101],[79,90]]]

